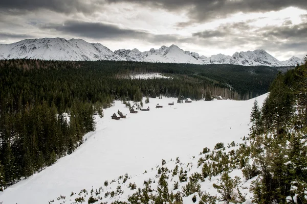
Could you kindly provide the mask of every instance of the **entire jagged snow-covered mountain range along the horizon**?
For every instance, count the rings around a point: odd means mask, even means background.
[[[200,56],[198,53],[184,51],[177,45],[161,46],[140,52],[137,48],[118,49],[112,52],[100,43],[89,43],[82,39],[40,38],[26,39],[11,44],[0,44],[0,59],[41,59],[68,61],[138,61],[162,63],[190,63],[190,64],[235,64],[244,66],[296,66],[302,59],[292,57],[286,61],[279,61],[263,49],[236,52],[229,55]]]

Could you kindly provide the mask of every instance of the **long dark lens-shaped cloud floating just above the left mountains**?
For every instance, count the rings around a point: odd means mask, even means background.
[[[176,35],[155,35],[143,30],[123,29],[100,22],[65,21],[63,24],[48,24],[40,28],[92,39],[143,39],[150,42],[169,42],[177,41],[179,38]]]

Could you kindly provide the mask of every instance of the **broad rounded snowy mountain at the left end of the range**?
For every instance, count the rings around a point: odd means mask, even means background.
[[[42,60],[121,60],[100,43],[81,39],[41,38],[0,45],[0,58]]]

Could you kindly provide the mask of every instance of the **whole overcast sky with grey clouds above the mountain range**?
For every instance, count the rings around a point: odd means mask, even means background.
[[[176,44],[210,57],[307,54],[306,0],[1,0],[0,43],[82,38],[111,50]]]

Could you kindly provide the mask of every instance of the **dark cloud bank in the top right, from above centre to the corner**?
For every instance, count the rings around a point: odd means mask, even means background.
[[[307,9],[306,0],[106,0],[109,3],[135,3],[169,11],[186,10],[191,22],[203,22],[210,19],[224,18],[237,12],[279,11],[293,6]],[[183,22],[180,25],[188,25]]]

